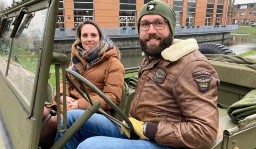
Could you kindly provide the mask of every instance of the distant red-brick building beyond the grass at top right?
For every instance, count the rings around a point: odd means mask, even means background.
[[[256,22],[256,3],[237,4],[234,6],[234,24],[245,26],[254,22]]]

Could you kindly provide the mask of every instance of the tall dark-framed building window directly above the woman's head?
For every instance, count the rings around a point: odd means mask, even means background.
[[[73,0],[74,1],[74,26],[75,28],[86,20],[94,20],[93,0]]]

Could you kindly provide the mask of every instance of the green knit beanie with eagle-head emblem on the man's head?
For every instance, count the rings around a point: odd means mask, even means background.
[[[159,14],[160,16],[167,19],[169,27],[172,31],[172,34],[174,35],[175,26],[176,26],[176,14],[173,8],[171,8],[168,4],[160,0],[150,1],[141,8],[139,12],[138,21],[140,21],[141,17],[145,14]],[[138,33],[139,33],[139,26],[138,26]]]

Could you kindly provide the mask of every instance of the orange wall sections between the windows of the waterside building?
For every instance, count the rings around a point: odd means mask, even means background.
[[[173,0],[162,0],[173,6]],[[144,0],[137,0],[136,5],[136,22],[139,18],[139,11],[143,6]],[[224,0],[224,8],[221,24],[224,25],[226,21],[226,9],[228,0]],[[216,9],[218,0],[214,1],[214,10],[212,17],[212,25],[215,25]],[[197,0],[196,13],[194,19],[195,26],[205,25],[207,0]],[[183,11],[181,18],[181,26],[186,25],[186,12],[187,11],[187,0],[183,0]],[[64,0],[64,15],[65,15],[65,27],[74,28],[74,11],[73,11],[73,0]],[[71,16],[69,19],[68,16]],[[119,0],[94,0],[94,20],[99,24],[100,27],[119,27]],[[231,24],[232,16],[227,19],[227,24]]]

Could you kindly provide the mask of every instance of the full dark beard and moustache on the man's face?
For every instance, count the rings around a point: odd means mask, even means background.
[[[150,45],[147,46],[146,41],[150,40],[150,39],[160,39],[160,44],[159,46],[157,45]],[[147,56],[154,56],[154,57],[158,57],[161,55],[161,52],[167,48],[170,47],[172,45],[173,42],[173,35],[170,32],[169,35],[165,38],[161,38],[160,36],[156,36],[156,34],[153,35],[149,35],[148,38],[142,40],[139,38],[139,44],[140,44],[140,48],[141,50],[147,55]]]

